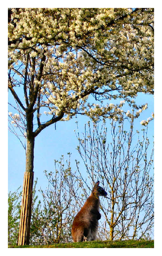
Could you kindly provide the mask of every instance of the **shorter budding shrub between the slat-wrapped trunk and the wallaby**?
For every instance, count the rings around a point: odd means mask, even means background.
[[[76,214],[76,207],[81,207],[81,178],[77,170],[72,173],[69,159],[64,161],[63,155],[55,160],[54,172],[45,171],[48,181],[46,191],[39,190],[42,203],[36,204],[33,199],[30,244],[54,244],[71,242],[71,226]]]

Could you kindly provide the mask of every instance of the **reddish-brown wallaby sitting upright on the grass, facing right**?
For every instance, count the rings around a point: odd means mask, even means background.
[[[74,242],[96,240],[98,220],[101,218],[99,196],[107,196],[99,183],[100,181],[96,182],[91,195],[73,220],[71,233]]]

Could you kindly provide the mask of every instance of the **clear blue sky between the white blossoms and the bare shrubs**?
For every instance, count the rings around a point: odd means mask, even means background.
[[[10,95],[9,95],[10,97]],[[148,103],[148,108],[141,113],[135,121],[135,130],[144,128],[141,126],[140,121],[147,120],[154,111],[153,96],[140,94],[137,98],[137,105]],[[127,110],[131,108],[127,108]],[[126,109],[125,109],[126,110]],[[16,110],[15,110],[16,113]],[[14,114],[14,113],[13,113]],[[84,131],[84,124],[89,120],[86,116],[78,115],[70,121],[59,121],[55,125],[42,130],[42,132],[35,139],[35,152],[34,152],[34,180],[38,178],[38,188],[45,190],[48,185],[47,178],[44,176],[43,171],[48,172],[54,169],[54,159],[58,160],[61,155],[67,159],[67,153],[71,155],[71,167],[75,168],[75,159],[80,161],[82,172],[86,169],[80,159],[80,155],[76,150],[78,145],[74,129],[76,129],[76,121],[80,132]],[[109,122],[109,120],[107,120]],[[149,123],[149,139],[152,140],[154,134],[153,121]],[[23,175],[25,171],[25,150],[15,135],[8,132],[8,191],[15,191],[19,186],[23,186]]]

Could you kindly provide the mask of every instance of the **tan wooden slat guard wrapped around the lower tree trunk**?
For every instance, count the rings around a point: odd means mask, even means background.
[[[29,245],[33,178],[34,172],[24,173],[18,245]]]

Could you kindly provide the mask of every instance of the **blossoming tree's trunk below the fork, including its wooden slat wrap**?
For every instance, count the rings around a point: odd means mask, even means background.
[[[20,213],[20,228],[18,245],[29,245],[30,220],[33,192],[33,162],[34,162],[34,137],[27,139],[26,171],[23,181],[22,206]]]

